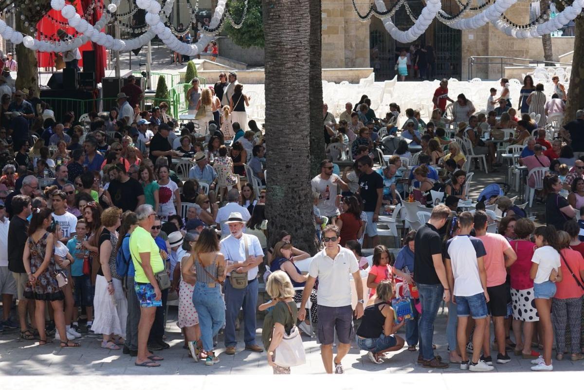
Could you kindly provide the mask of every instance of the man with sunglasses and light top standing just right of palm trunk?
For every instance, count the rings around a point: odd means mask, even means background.
[[[321,194],[317,207],[321,215],[329,218],[329,223],[334,224],[336,217],[340,215],[336,207],[336,196],[340,194],[338,186],[343,191],[349,191],[349,186],[339,175],[332,173],[333,164],[331,160],[322,160],[321,174],[314,176],[311,180],[312,192]]]

